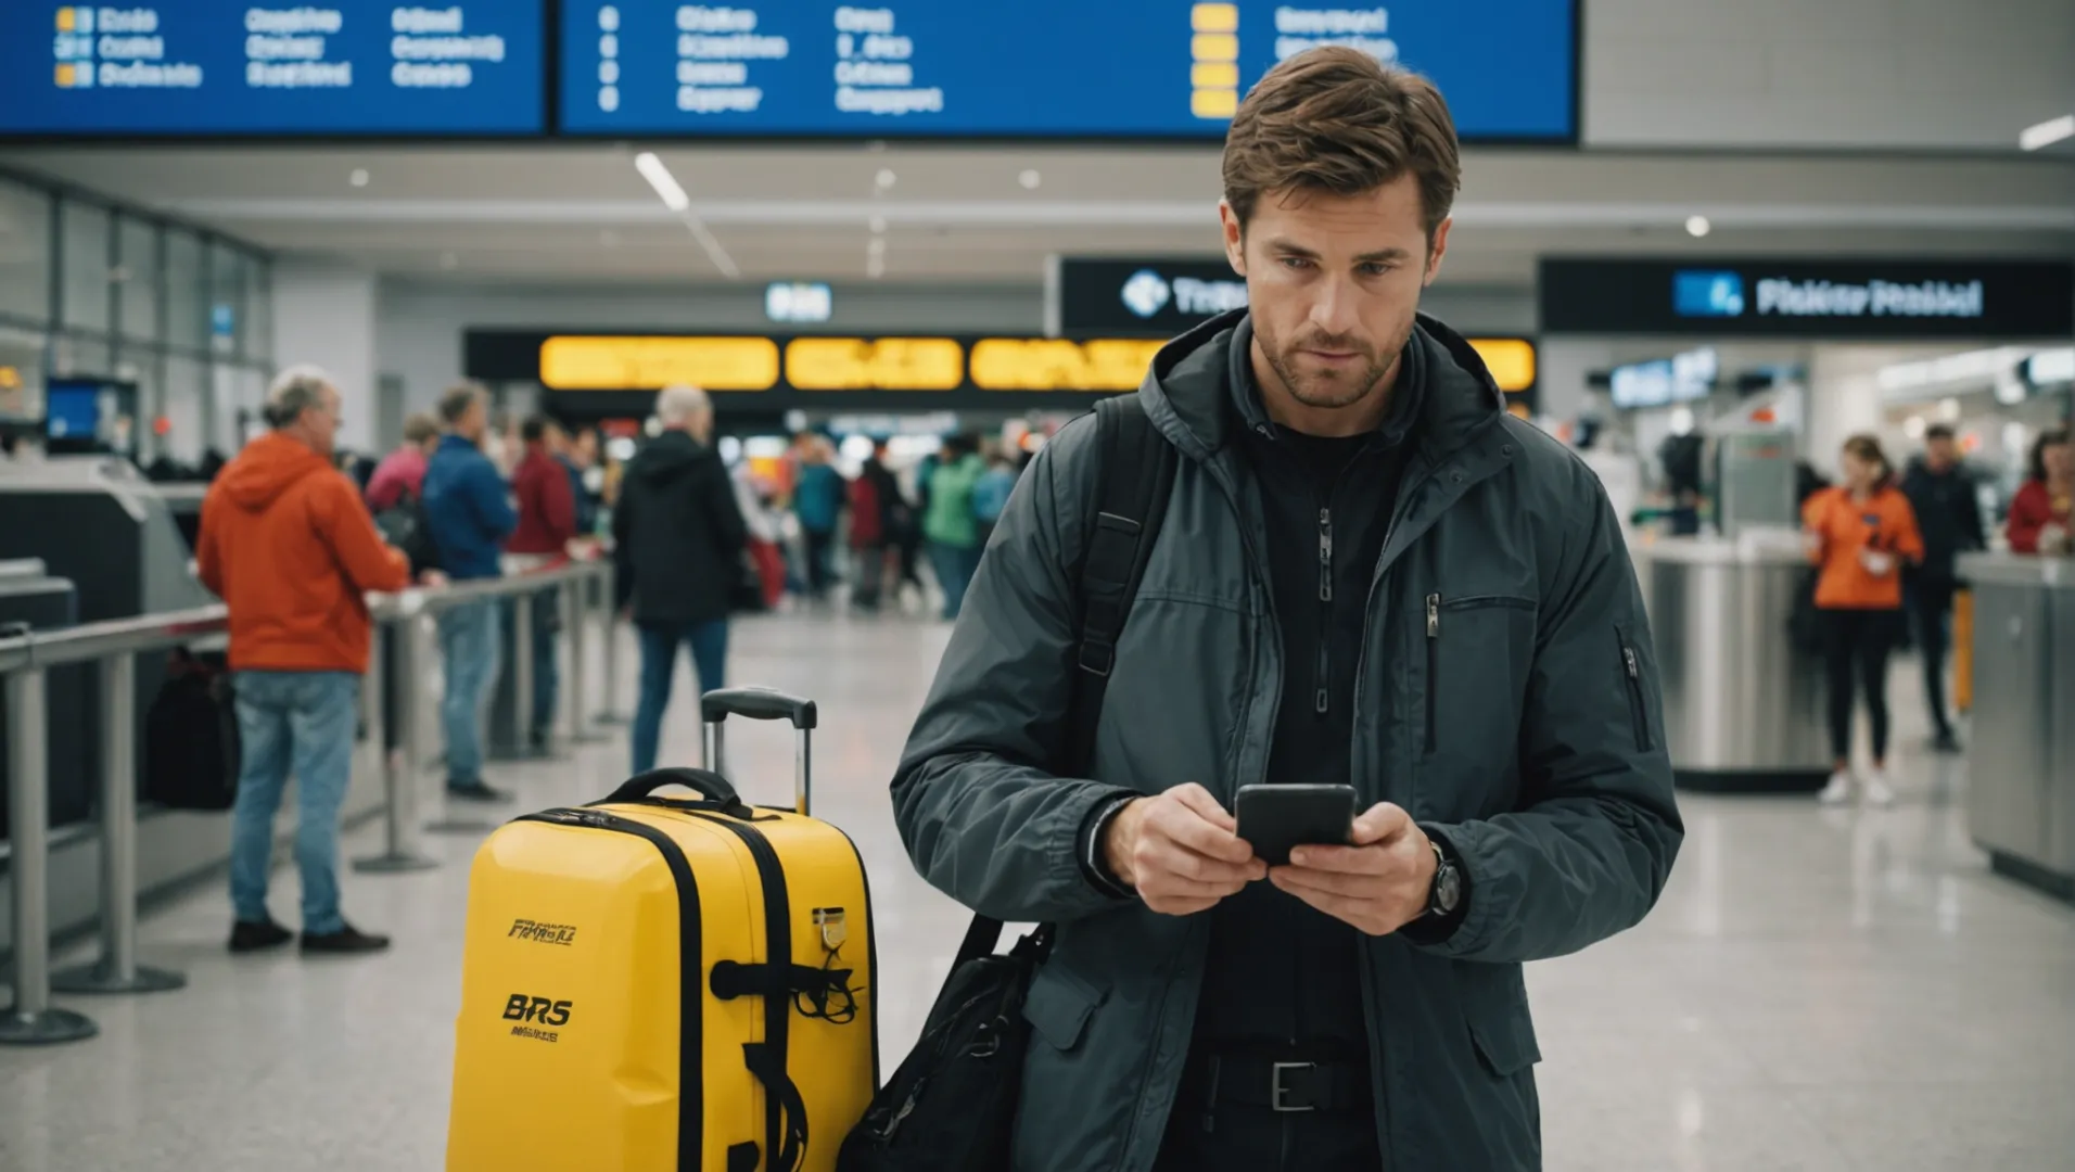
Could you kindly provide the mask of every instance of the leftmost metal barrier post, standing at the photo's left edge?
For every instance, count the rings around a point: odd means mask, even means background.
[[[0,1012],[0,1043],[39,1045],[93,1037],[85,1014],[50,1006],[50,755],[44,670],[6,678],[8,880],[15,896],[15,1004]]]

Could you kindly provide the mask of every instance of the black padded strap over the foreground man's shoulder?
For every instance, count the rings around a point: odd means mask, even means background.
[[[1075,589],[1081,643],[1067,722],[1069,768],[1075,772],[1085,772],[1096,757],[1096,722],[1116,666],[1116,639],[1166,521],[1179,461],[1135,394],[1096,404],[1096,510],[1081,527]]]

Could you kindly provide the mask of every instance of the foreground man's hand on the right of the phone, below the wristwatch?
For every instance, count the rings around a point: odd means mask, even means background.
[[[1355,819],[1353,846],[1299,846],[1268,882],[1370,936],[1419,919],[1434,890],[1434,846],[1401,807],[1380,803]]]

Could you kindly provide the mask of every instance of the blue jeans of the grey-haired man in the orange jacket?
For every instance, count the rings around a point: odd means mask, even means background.
[[[272,919],[266,880],[274,813],[295,774],[295,865],[303,871],[303,931],[338,917],[338,807],[353,780],[361,678],[353,672],[239,672],[239,801],[230,817],[230,906],[245,923]]]

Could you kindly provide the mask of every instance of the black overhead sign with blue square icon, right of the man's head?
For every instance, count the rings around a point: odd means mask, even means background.
[[[2067,261],[1546,259],[1552,334],[2054,338],[2075,330]]]

